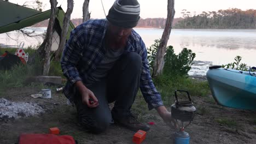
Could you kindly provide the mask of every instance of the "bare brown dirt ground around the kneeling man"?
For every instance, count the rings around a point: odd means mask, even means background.
[[[11,88],[2,98],[11,101],[34,102],[46,112],[36,117],[0,119],[0,143],[15,143],[21,133],[48,133],[50,127],[58,127],[61,135],[72,135],[79,143],[132,143],[133,131],[111,125],[103,134],[90,134],[76,124],[75,108],[66,104],[62,93],[52,89],[52,99],[34,99],[31,94],[38,88]],[[192,97],[197,112],[194,121],[185,129],[190,134],[190,143],[256,143],[256,111],[229,109],[207,98]],[[142,112],[139,119],[155,122],[151,125],[143,143],[173,143],[173,129],[166,126],[155,110],[137,98],[133,108]],[[46,102],[45,102],[46,101]],[[55,104],[54,104],[55,103]],[[170,106],[167,106],[170,109]],[[137,109],[136,109],[137,108]],[[228,120],[226,120],[228,119]]]

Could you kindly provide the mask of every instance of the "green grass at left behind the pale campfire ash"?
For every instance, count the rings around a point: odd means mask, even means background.
[[[8,51],[10,53],[15,53],[16,49],[10,49],[10,48],[1,48],[0,49],[0,55],[2,55],[5,51]],[[36,50],[34,47],[28,47],[25,49],[25,52],[29,53],[29,56],[34,53]],[[28,57],[29,58],[29,57]],[[42,62],[39,59],[36,59],[33,64],[20,64],[20,65],[14,65],[10,70],[0,70],[0,95],[4,94],[5,90],[7,88],[13,88],[13,87],[42,87],[40,84],[31,83],[30,85],[27,85],[26,79],[30,76],[36,76],[42,74],[43,66],[41,64]],[[61,65],[60,62],[51,62],[50,65],[50,76],[62,76],[61,71]]]

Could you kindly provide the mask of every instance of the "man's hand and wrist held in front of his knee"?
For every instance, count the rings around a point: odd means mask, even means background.
[[[81,94],[83,104],[88,107],[97,107],[98,99],[95,97],[94,93],[90,89],[86,88],[82,81],[75,82],[75,86]]]

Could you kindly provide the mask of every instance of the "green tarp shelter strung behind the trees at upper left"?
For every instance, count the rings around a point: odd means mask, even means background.
[[[3,4],[3,5],[2,5]],[[13,9],[15,9],[15,6],[17,4],[13,4],[13,3],[9,3],[9,2],[5,2],[0,0],[0,23],[3,23],[3,25],[0,24],[0,33],[6,33],[6,32],[10,32],[10,31],[14,31],[14,30],[18,30],[24,27],[28,27],[28,26],[32,26],[40,21],[44,21],[46,19],[50,19],[50,13],[51,10],[46,10],[44,12],[40,12],[37,10],[33,10],[30,8],[26,8],[26,7],[22,7],[19,5],[19,10],[22,11],[22,13],[24,13],[24,15],[22,15],[22,18],[20,19],[16,19],[15,17],[19,17],[20,14],[19,13],[14,13],[14,14],[7,14],[5,11],[3,11],[4,9],[9,9],[8,11],[11,11]],[[2,9],[2,7],[5,7],[4,9]],[[18,7],[18,6],[16,6]],[[55,21],[57,21],[59,23],[59,28],[62,29],[63,26],[63,20],[65,17],[65,11],[63,11],[63,9],[61,7],[56,8],[56,19]],[[8,17],[10,15],[9,19],[3,19],[2,18],[2,14],[5,14],[5,17]],[[12,13],[12,12],[10,12]],[[25,16],[26,14],[26,16]],[[6,21],[5,21],[6,20]],[[4,22],[2,22],[4,21]],[[70,32],[72,31],[72,29],[74,29],[74,25],[71,21],[69,21],[69,27],[68,27],[68,33],[67,33],[67,37],[66,39],[69,39],[69,35]]]

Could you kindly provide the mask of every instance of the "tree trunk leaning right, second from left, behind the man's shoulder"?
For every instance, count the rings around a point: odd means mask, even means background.
[[[68,3],[67,11],[66,11],[66,14],[65,14],[65,17],[64,17],[64,20],[63,20],[60,44],[59,44],[59,48],[55,52],[55,57],[54,57],[54,59],[56,61],[60,61],[60,59],[61,59],[62,51],[63,51],[63,49],[65,47],[65,44],[66,44],[66,37],[67,37],[67,31],[68,31],[68,27],[69,27],[70,16],[72,14],[73,7],[74,7],[74,1],[73,0],[68,0],[67,3]]]

